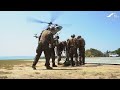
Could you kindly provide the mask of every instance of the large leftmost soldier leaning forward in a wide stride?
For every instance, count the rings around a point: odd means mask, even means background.
[[[52,69],[52,67],[50,67],[50,49],[49,49],[49,43],[53,43],[53,32],[54,30],[53,29],[46,29],[46,30],[43,30],[40,37],[39,37],[39,43],[38,43],[38,47],[36,49],[36,56],[35,56],[35,59],[33,61],[33,64],[32,64],[32,68],[34,70],[36,70],[36,64],[42,54],[42,51],[44,51],[44,54],[45,54],[45,59],[46,59],[46,62],[45,62],[45,66],[46,66],[46,69]]]

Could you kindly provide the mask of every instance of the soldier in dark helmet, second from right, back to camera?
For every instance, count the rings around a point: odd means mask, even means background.
[[[71,35],[71,39],[68,40],[68,53],[69,57],[71,58],[71,64],[74,66],[73,57],[75,57],[76,66],[78,66],[78,54],[77,54],[77,39],[75,38],[75,35]]]

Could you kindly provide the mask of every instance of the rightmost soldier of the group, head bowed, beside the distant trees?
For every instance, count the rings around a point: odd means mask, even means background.
[[[77,37],[78,49],[79,49],[79,62],[80,65],[85,65],[85,40],[81,37]]]

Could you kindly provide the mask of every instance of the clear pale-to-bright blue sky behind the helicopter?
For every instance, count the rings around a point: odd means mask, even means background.
[[[119,11],[0,11],[0,56],[35,56],[40,34],[47,26],[29,18],[63,25],[60,41],[81,35],[86,49],[102,52],[120,48]]]

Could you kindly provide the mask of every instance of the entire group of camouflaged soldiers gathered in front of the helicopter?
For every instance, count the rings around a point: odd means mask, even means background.
[[[58,28],[57,28],[58,29]],[[62,27],[59,27],[61,30]],[[64,62],[65,66],[79,66],[85,64],[85,40],[78,36],[71,35],[71,38],[67,41],[59,41],[59,36],[54,37],[56,34],[55,28],[47,28],[43,30],[38,39],[38,47],[36,49],[36,56],[32,64],[32,68],[36,70],[36,64],[44,51],[45,55],[45,67],[46,69],[53,69],[52,67],[57,67],[55,64],[55,54],[57,54],[57,63],[60,63],[62,58],[62,53],[65,52],[66,60]],[[75,61],[74,61],[75,58]],[[50,67],[50,59],[52,59],[52,67]]]

